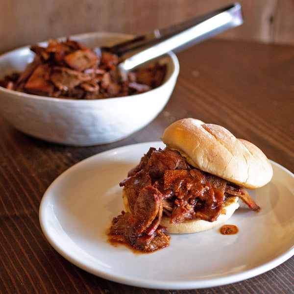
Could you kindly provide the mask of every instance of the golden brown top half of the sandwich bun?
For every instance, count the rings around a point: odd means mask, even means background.
[[[272,177],[270,161],[258,147],[217,124],[182,119],[164,131],[162,141],[195,168],[248,189],[262,187]]]

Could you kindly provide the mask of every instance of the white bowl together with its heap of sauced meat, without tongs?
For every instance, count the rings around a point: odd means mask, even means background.
[[[0,115],[27,135],[91,146],[123,139],[168,102],[179,64],[170,52],[128,74],[118,56],[96,47],[133,36],[94,32],[15,49],[0,56]]]

